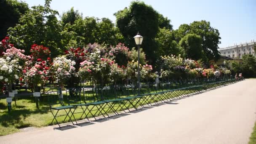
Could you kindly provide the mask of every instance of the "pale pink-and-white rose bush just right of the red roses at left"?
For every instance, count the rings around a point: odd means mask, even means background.
[[[63,56],[54,58],[51,69],[55,75],[56,82],[63,84],[67,78],[75,75],[75,64],[75,61],[71,61]]]

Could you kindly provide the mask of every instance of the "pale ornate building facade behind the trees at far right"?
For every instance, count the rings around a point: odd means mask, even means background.
[[[256,42],[251,40],[251,42],[241,43],[240,45],[229,46],[227,48],[220,48],[219,52],[221,56],[228,56],[230,58],[238,58],[241,59],[244,54],[252,54],[256,56],[254,51],[254,47],[256,46]]]

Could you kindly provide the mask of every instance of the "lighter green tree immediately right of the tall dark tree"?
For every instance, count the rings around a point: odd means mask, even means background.
[[[173,34],[169,29],[159,29],[155,41],[158,45],[157,56],[164,55],[183,55],[181,47],[173,40]]]

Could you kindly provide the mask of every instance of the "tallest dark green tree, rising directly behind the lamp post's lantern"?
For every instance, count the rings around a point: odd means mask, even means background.
[[[125,37],[125,45],[136,47],[133,37],[139,31],[144,37],[141,48],[144,49],[149,63],[155,61],[157,44],[155,36],[159,27],[159,14],[151,6],[141,1],[133,1],[129,8],[117,11],[117,27]]]

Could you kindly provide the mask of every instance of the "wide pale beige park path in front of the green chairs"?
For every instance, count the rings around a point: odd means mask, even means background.
[[[114,120],[0,137],[0,144],[247,144],[256,121],[256,79]]]

